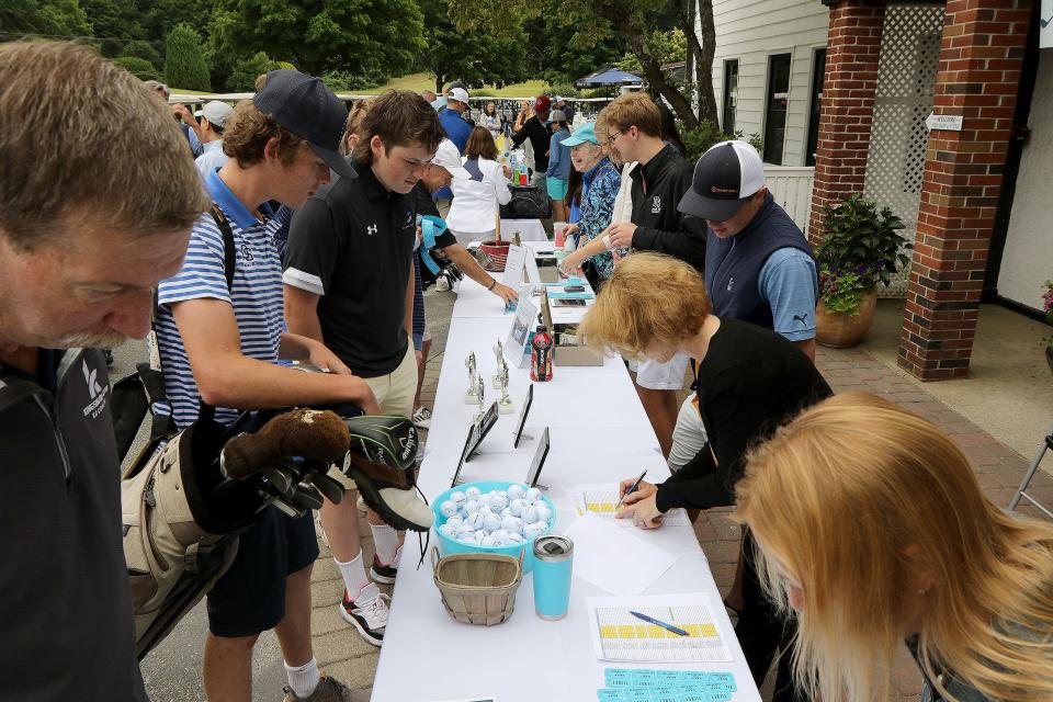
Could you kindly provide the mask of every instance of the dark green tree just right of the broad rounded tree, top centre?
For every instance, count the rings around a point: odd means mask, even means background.
[[[435,92],[461,80],[475,88],[485,83],[505,86],[526,76],[522,56],[528,39],[522,29],[507,37],[485,30],[458,31],[450,20],[448,0],[420,0],[428,43],[418,65],[435,77]]]

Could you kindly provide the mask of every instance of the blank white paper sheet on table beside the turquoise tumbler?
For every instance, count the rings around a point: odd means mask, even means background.
[[[574,576],[612,595],[639,595],[678,557],[611,521],[586,514],[567,529],[574,542]]]

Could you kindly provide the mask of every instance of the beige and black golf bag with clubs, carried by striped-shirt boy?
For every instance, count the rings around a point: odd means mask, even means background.
[[[290,516],[340,502],[326,473],[399,472],[412,463],[417,433],[401,417],[344,419],[296,409],[259,431],[215,422],[203,408],[122,482],[124,555],[141,660],[230,567],[238,534],[274,506]]]

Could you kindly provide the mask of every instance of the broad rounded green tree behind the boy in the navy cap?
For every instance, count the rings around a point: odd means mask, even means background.
[[[213,7],[218,65],[267,52],[315,76],[388,77],[406,72],[423,46],[415,0],[215,0]]]

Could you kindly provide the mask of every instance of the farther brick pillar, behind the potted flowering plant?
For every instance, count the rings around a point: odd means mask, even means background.
[[[826,76],[808,220],[813,244],[823,238],[823,206],[863,192],[885,21],[885,3],[881,1],[831,0],[829,4]]]

